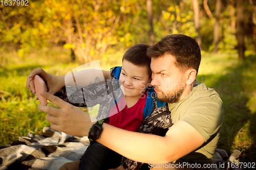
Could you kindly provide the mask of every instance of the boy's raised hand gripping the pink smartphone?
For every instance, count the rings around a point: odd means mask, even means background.
[[[31,74],[27,78],[26,87],[35,94],[35,86],[34,86],[34,77],[35,75],[40,76],[47,85],[48,92],[51,94],[55,94],[58,92],[63,86],[65,86],[64,78],[59,76],[54,76],[47,73],[42,68],[37,68],[31,72]],[[38,100],[38,98],[36,98]]]

